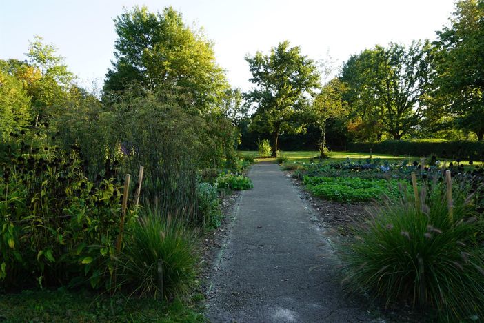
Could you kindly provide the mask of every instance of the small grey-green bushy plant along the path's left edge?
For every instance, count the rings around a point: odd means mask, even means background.
[[[207,228],[218,228],[221,224],[222,213],[219,205],[219,194],[212,184],[202,182],[196,193],[198,195],[198,213],[203,218]]]

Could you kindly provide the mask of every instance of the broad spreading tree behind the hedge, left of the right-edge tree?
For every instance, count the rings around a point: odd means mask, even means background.
[[[394,139],[410,133],[423,116],[423,96],[429,85],[430,46],[412,42],[390,43],[352,55],[343,66],[341,80],[346,98],[364,123],[379,119],[382,131]],[[379,136],[380,137],[380,136]]]

